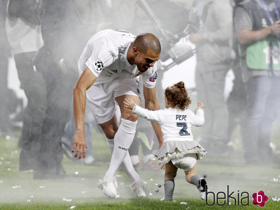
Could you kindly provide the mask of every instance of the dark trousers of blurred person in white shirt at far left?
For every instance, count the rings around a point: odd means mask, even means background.
[[[46,87],[41,73],[34,71],[33,57],[35,52],[15,54],[15,63],[21,88],[28,99],[22,113],[23,128],[19,145],[22,147],[19,156],[19,170],[34,169],[39,153],[39,137],[46,112]]]

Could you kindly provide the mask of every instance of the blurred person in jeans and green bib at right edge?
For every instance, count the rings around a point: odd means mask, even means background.
[[[280,108],[279,13],[279,0],[245,0],[234,15],[247,95],[241,124],[246,164],[280,163],[269,146]]]

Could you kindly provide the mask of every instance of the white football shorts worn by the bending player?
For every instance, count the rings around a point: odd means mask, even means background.
[[[140,98],[138,77],[117,77],[108,83],[93,84],[86,93],[89,108],[96,122],[105,123],[115,115],[116,97],[134,95]]]

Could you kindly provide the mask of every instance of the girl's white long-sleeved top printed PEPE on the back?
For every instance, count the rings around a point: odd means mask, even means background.
[[[133,113],[149,121],[159,123],[163,133],[163,143],[193,140],[191,126],[199,127],[204,123],[202,109],[197,109],[196,114],[188,109],[182,111],[176,108],[150,111],[135,104]]]

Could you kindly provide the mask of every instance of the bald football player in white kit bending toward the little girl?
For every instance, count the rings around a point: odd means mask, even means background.
[[[103,129],[112,153],[109,169],[97,186],[108,197],[117,198],[116,175],[121,163],[136,196],[147,196],[145,183],[134,170],[129,157],[138,116],[125,108],[124,98],[133,98],[140,105],[138,76],[143,77],[143,93],[150,110],[158,110],[155,82],[161,46],[151,33],[134,36],[125,30],[103,30],[87,43],[78,62],[80,78],[73,92],[73,111],[76,132],[72,152],[75,157],[85,158],[87,148],[84,135],[85,100]],[[115,115],[116,103],[120,107],[121,122]],[[152,122],[159,142],[162,141],[160,126]]]

